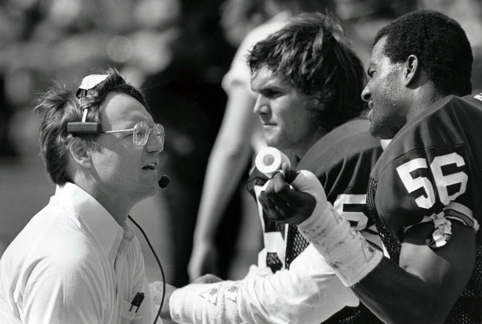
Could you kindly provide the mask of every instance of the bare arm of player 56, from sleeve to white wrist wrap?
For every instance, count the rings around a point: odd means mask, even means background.
[[[400,266],[384,258],[352,288],[388,323],[439,323],[462,292],[475,262],[473,229],[452,222],[450,241],[438,250],[425,244],[432,223],[410,229],[402,244]]]

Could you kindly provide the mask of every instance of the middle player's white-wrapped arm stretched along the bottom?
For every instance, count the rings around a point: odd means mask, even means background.
[[[313,323],[358,299],[312,245],[289,270],[240,281],[190,284],[171,295],[171,315],[181,323]]]

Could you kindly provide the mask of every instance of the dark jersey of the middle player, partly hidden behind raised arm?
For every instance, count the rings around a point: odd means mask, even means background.
[[[380,141],[370,135],[369,126],[368,119],[357,118],[333,129],[306,152],[296,169],[314,173],[323,185],[328,201],[338,213],[382,249],[381,240],[366,208],[370,172],[382,153]],[[248,180],[248,191],[258,205],[257,197],[267,181],[268,178],[257,169]],[[282,268],[289,269],[291,262],[309,242],[296,226],[270,221],[260,205],[259,211],[267,251],[266,265],[273,272]],[[355,320],[357,323],[377,322],[363,305],[355,309],[345,307],[327,322],[351,323]]]

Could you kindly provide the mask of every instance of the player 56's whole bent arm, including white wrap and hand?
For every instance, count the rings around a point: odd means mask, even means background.
[[[314,175],[300,175],[292,184],[303,193],[290,189],[280,175],[274,177],[271,188],[260,195],[267,215],[299,224],[345,285],[384,321],[443,321],[473,269],[473,229],[452,222],[452,238],[432,250],[425,239],[433,224],[414,226],[406,233],[399,266],[371,248],[333,210]]]

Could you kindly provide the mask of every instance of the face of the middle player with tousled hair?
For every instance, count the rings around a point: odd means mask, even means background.
[[[260,116],[264,138],[269,146],[291,149],[302,156],[321,136],[308,105],[315,95],[306,95],[286,84],[267,67],[257,71],[251,80],[257,93],[254,112]]]

